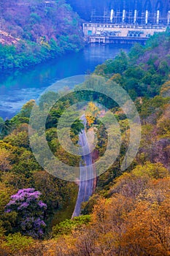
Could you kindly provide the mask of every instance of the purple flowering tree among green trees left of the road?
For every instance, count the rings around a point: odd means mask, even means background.
[[[39,200],[41,193],[35,189],[20,189],[11,196],[6,206],[6,212],[15,211],[17,217],[17,231],[23,235],[42,238],[45,232],[45,210],[47,205]]]

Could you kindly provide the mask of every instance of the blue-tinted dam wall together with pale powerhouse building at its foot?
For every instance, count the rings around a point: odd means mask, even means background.
[[[87,42],[146,42],[170,26],[170,0],[69,0]]]

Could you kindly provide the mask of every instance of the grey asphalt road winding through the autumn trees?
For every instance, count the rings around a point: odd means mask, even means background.
[[[81,119],[85,125],[85,116],[83,115]],[[88,138],[85,134],[85,129],[83,129],[79,135],[79,144],[83,147],[84,152],[89,152]],[[82,202],[88,201],[89,197],[93,194],[93,181],[92,157],[91,154],[86,154],[82,156],[82,161],[80,162],[80,186],[72,218],[80,215]]]

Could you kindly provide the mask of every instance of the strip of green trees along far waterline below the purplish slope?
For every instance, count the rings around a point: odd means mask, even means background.
[[[62,44],[62,42],[60,42],[60,44]],[[29,50],[20,50],[13,45],[0,44],[0,75],[35,67],[37,64],[60,58],[69,53],[77,53],[84,48],[84,43],[82,42],[77,45],[69,43],[69,45],[60,47],[54,39],[51,39],[48,45],[37,45],[36,43],[31,42],[29,46],[24,45],[24,48],[28,47],[30,48]],[[36,50],[34,50],[34,48]]]

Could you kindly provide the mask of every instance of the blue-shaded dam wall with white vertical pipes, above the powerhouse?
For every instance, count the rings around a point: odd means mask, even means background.
[[[86,22],[169,25],[169,0],[66,0]]]

